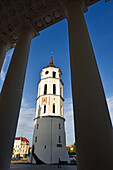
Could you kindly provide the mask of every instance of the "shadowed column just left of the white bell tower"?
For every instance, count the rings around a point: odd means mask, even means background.
[[[1,92],[0,170],[10,166],[32,36],[30,28],[21,29]]]

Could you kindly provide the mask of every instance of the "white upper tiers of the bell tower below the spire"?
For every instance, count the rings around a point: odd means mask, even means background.
[[[48,72],[48,74],[46,74]],[[53,72],[56,73],[55,78]],[[41,71],[41,80],[38,87],[36,117],[38,116],[64,116],[63,109],[63,83],[61,81],[61,71],[59,68],[48,67]],[[44,94],[45,84],[47,84],[47,94]],[[53,94],[53,84],[56,85],[56,93]],[[53,104],[55,104],[55,113],[53,113]],[[46,105],[46,113],[44,113]]]

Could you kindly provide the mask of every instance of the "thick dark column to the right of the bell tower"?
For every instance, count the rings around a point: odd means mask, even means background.
[[[79,0],[68,19],[78,170],[113,169],[113,130],[91,40]]]

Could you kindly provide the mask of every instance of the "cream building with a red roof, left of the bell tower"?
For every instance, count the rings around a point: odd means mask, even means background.
[[[12,158],[27,158],[29,141],[24,137],[15,137]]]

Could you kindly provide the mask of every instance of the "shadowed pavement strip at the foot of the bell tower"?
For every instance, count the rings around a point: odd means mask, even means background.
[[[75,165],[62,165],[57,168],[57,165],[31,165],[26,163],[11,163],[10,170],[77,170]]]

